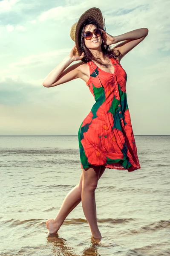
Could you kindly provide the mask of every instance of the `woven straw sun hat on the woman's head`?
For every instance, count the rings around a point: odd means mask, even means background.
[[[81,56],[81,54],[82,54],[80,43],[78,41],[79,30],[81,28],[81,25],[88,18],[92,18],[93,20],[96,20],[102,28],[105,26],[101,10],[96,7],[88,9],[86,12],[84,12],[81,15],[78,22],[76,22],[72,25],[71,30],[70,30],[70,37],[75,42],[79,56]]]

